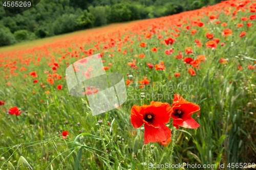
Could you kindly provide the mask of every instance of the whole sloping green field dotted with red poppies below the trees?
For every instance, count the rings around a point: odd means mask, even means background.
[[[224,1],[0,48],[0,169],[255,165],[255,11]],[[127,100],[93,116],[99,90],[70,95],[66,68],[95,54]]]

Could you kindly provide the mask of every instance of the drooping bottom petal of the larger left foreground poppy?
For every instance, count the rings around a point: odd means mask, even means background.
[[[158,127],[154,128],[152,126],[144,125],[145,133],[144,133],[144,144],[148,142],[157,142],[167,140],[170,136],[172,136],[171,130],[164,124],[159,124]]]

